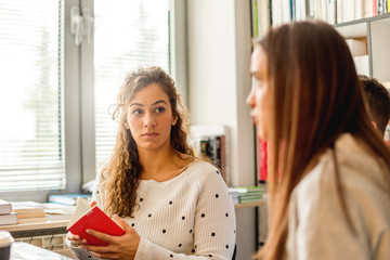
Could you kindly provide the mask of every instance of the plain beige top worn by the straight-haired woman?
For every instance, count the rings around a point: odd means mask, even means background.
[[[390,194],[384,168],[351,134],[336,142],[341,190],[353,234],[337,195],[330,151],[291,194],[287,258],[390,259]]]

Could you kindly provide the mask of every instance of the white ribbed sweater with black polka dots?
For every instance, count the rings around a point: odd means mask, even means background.
[[[99,177],[92,197],[103,208],[100,182]],[[232,259],[234,205],[221,173],[209,162],[194,161],[165,182],[142,180],[136,204],[134,218],[125,218],[141,236],[135,259]],[[87,256],[82,248],[73,250]]]

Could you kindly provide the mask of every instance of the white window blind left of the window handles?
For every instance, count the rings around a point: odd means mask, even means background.
[[[0,191],[65,187],[63,2],[0,0]]]

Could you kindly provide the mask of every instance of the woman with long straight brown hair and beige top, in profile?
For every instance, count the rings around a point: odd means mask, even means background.
[[[270,142],[260,259],[389,259],[390,153],[344,39],[300,22],[255,42],[247,99]]]

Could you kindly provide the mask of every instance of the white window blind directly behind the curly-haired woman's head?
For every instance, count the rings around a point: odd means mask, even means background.
[[[169,36],[174,26],[168,12],[172,9],[168,0],[94,2],[96,169],[112,155],[117,123],[112,120],[108,107],[115,103],[126,73],[140,66],[170,70]]]

